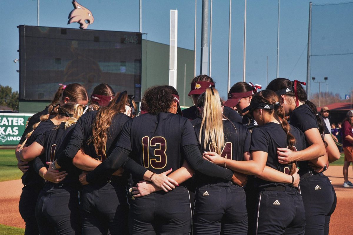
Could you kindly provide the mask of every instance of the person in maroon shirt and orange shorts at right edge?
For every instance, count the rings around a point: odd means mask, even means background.
[[[345,163],[343,164],[343,187],[353,187],[348,180],[348,167],[353,161],[353,110],[347,112],[347,117],[343,119],[342,125],[343,151],[345,152]]]

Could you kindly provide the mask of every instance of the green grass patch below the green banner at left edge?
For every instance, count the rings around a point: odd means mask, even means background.
[[[17,168],[15,150],[0,149],[0,181],[20,179],[22,175]]]

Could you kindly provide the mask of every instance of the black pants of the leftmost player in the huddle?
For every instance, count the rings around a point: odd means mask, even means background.
[[[26,185],[22,188],[18,209],[21,217],[23,218],[26,229],[25,235],[38,235],[39,229],[35,216],[36,202],[41,191],[43,184]]]

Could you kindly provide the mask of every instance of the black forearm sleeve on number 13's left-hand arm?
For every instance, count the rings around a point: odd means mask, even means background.
[[[129,154],[129,150],[115,147],[105,161],[98,165],[93,171],[87,173],[86,181],[88,183],[94,183],[109,177],[121,167]]]

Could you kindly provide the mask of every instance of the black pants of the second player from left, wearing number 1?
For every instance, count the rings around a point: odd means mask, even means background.
[[[36,204],[41,235],[81,234],[80,186],[46,183]]]

